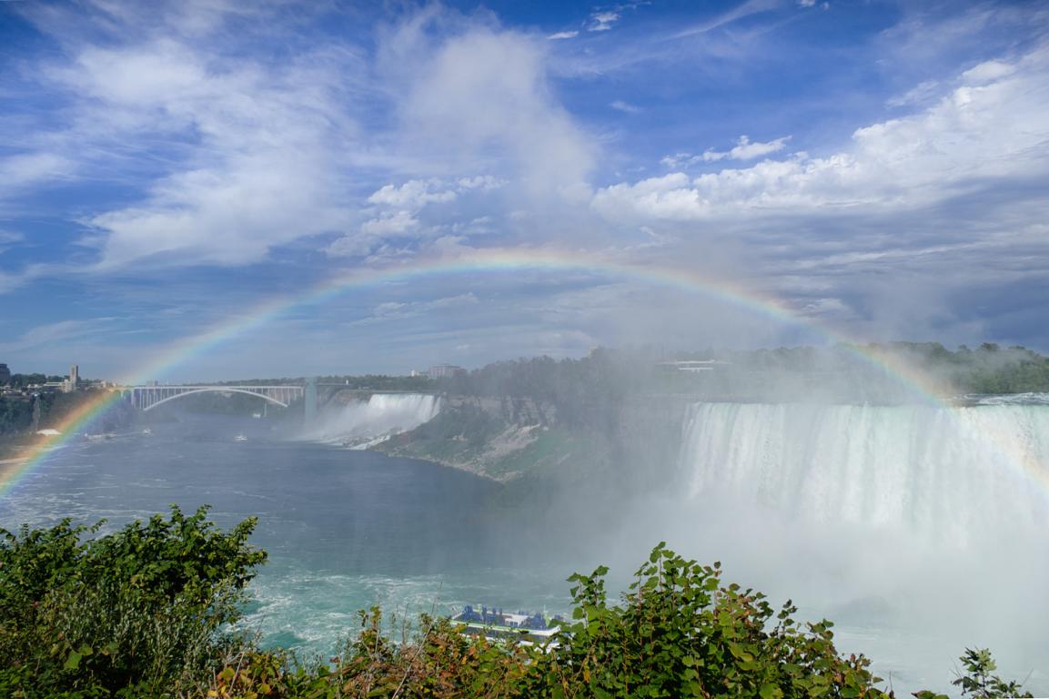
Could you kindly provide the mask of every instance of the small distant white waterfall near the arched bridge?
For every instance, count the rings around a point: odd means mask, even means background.
[[[329,410],[309,427],[309,440],[369,446],[391,435],[414,429],[441,411],[441,399],[422,394],[372,394]]]

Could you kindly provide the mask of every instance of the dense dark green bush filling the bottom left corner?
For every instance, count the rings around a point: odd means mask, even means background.
[[[244,586],[265,553],[187,516],[0,530],[0,695],[151,696],[206,682],[238,639]]]

